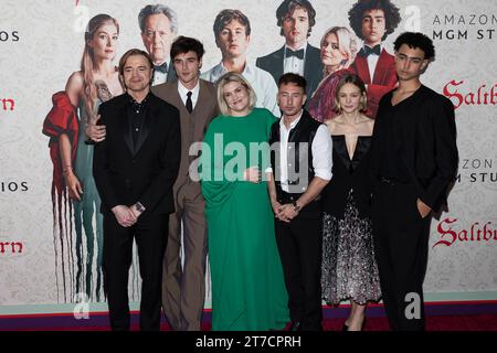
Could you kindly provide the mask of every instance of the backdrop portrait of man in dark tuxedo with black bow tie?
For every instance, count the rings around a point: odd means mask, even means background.
[[[276,19],[285,45],[258,57],[255,65],[271,73],[276,83],[286,73],[304,76],[306,95],[311,97],[322,76],[320,51],[307,43],[316,23],[316,10],[308,0],[284,0],[276,10]]]

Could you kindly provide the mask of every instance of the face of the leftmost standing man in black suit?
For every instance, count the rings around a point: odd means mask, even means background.
[[[144,55],[131,55],[127,58],[123,72],[123,81],[127,89],[142,92],[150,86],[152,69]]]

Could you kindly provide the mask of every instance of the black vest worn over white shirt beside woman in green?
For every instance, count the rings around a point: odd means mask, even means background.
[[[316,131],[321,124],[314,120],[313,117],[303,110],[300,120],[289,131],[287,145],[287,176],[288,193],[294,196],[303,194],[314,178],[313,167],[313,141]],[[275,184],[278,199],[283,194],[282,183],[279,180],[279,120],[271,127],[269,145],[271,145],[271,165],[275,174]],[[302,172],[300,172],[302,171]],[[307,180],[306,180],[307,178]]]

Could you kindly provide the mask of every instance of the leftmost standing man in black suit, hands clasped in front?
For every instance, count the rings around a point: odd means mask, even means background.
[[[104,214],[104,288],[112,329],[129,330],[135,238],[142,279],[140,329],[159,330],[162,258],[180,164],[179,111],[150,93],[154,69],[146,52],[126,52],[119,74],[126,93],[101,106],[106,137],[95,145],[93,160]]]

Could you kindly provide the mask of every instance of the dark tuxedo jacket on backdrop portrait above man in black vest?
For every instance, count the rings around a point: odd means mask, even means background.
[[[276,85],[283,75],[285,45],[274,53],[257,57],[255,65],[273,75]],[[304,64],[304,77],[307,81],[307,97],[310,98],[322,78],[322,63],[319,49],[307,44]]]

